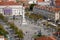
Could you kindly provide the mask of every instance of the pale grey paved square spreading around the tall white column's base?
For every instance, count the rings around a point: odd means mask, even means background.
[[[14,21],[15,25],[23,30],[25,36],[24,36],[24,40],[33,40],[32,36],[36,33],[38,34],[38,31],[41,30],[42,35],[52,35],[51,32],[47,32],[48,30],[44,30],[44,27],[42,24],[40,24],[40,26],[37,26],[33,24],[31,24],[31,21],[27,21],[26,25],[22,25],[20,20],[15,20]]]

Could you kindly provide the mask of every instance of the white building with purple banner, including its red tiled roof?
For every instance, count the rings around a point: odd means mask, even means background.
[[[0,2],[0,13],[4,16],[17,16],[25,13],[25,7],[16,2]]]

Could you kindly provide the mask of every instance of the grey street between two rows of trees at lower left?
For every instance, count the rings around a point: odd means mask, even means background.
[[[10,31],[10,30],[12,30],[12,29],[10,29],[10,26],[7,25],[6,23],[4,23],[2,20],[0,20],[0,24],[2,24],[2,26],[4,27],[4,29],[9,33],[8,34],[8,37],[9,37],[8,40],[15,40],[14,35],[13,35],[14,32],[12,34],[12,31]]]

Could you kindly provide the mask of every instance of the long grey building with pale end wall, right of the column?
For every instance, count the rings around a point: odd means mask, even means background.
[[[55,10],[54,8],[42,8],[42,7],[34,7],[33,12],[35,14],[41,14],[43,15],[46,19],[50,19],[51,21],[57,21],[60,20],[60,11],[53,11]]]

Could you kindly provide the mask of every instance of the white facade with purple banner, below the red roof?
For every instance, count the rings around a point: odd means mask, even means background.
[[[4,16],[22,15],[24,13],[24,7],[22,5],[1,5],[0,13]]]

